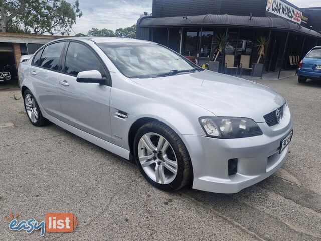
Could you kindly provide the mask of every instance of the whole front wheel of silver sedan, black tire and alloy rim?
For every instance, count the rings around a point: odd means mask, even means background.
[[[145,140],[148,137],[157,150],[151,152],[146,148]],[[160,140],[163,146],[159,146]],[[150,145],[147,146],[150,149]],[[134,155],[142,175],[159,189],[176,191],[187,185],[192,178],[192,165],[183,141],[171,128],[161,122],[148,122],[138,129],[134,139]]]

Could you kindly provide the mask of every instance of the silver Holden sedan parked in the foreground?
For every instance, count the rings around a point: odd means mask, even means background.
[[[55,40],[20,63],[19,79],[33,125],[134,158],[167,191],[238,192],[279,169],[292,138],[282,96],[148,41]]]

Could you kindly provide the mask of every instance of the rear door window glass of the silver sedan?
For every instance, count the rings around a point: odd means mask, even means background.
[[[64,44],[65,42],[58,42],[46,46],[41,55],[40,66],[47,69],[58,70],[60,54]]]

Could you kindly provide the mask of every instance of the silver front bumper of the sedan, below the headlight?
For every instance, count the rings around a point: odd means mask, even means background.
[[[180,135],[193,166],[193,188],[217,193],[236,193],[272,175],[284,163],[289,146],[279,153],[281,139],[293,126],[286,106],[282,121],[272,127],[258,123],[263,135],[217,139]],[[237,173],[228,173],[228,160],[238,159]]]

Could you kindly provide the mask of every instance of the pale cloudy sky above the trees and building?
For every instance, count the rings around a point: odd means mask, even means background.
[[[289,2],[300,8],[321,7],[321,0],[289,0]],[[141,14],[152,12],[152,0],[79,0],[79,4],[83,16],[77,18],[77,24],[73,25],[72,29],[76,33],[83,34],[88,33],[91,28],[115,31],[118,28],[132,26],[136,24]]]

